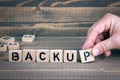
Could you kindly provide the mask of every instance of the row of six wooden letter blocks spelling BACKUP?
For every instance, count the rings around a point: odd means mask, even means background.
[[[80,59],[82,63],[92,62],[95,60],[89,50],[79,50]],[[10,62],[77,62],[77,50],[10,50]]]

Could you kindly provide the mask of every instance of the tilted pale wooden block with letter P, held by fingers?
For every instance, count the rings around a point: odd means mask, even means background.
[[[91,49],[80,50],[79,53],[80,53],[82,63],[95,61],[94,56],[91,54]]]

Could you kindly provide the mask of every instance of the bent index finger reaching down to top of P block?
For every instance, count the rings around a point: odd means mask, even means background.
[[[103,32],[109,31],[110,25],[111,21],[107,14],[89,29],[87,39],[82,49],[92,48],[95,45],[98,36]]]

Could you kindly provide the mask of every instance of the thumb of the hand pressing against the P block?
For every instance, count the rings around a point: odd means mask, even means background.
[[[112,39],[109,38],[107,40],[97,43],[92,49],[92,54],[94,56],[98,56],[98,55],[102,54],[103,52],[113,49],[114,46],[115,45],[112,42]]]

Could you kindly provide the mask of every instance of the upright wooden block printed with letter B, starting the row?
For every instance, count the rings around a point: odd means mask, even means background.
[[[22,61],[22,50],[10,50],[9,61],[10,62],[21,62]]]

